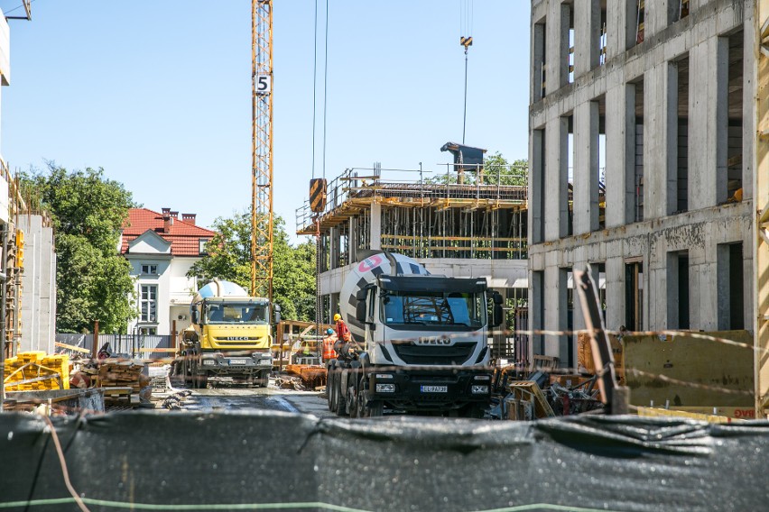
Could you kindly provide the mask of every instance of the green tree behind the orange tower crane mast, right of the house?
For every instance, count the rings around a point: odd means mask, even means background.
[[[250,288],[251,214],[218,217],[212,229],[217,234],[206,245],[208,254],[192,265],[187,276],[224,279]],[[273,225],[273,302],[281,306],[284,318],[314,320],[315,244],[293,247],[283,219],[277,216]]]

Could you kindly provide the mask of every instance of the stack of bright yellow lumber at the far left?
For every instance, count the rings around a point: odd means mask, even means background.
[[[19,352],[5,360],[6,391],[69,389],[69,356]]]

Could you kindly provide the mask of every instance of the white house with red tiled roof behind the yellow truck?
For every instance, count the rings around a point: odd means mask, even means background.
[[[132,208],[120,253],[131,263],[137,317],[128,333],[173,334],[190,325],[190,298],[197,290],[190,267],[205,254],[214,232],[195,225],[195,214]]]

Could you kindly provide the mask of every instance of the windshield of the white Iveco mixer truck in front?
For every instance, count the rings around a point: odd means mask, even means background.
[[[390,292],[382,297],[384,324],[486,325],[483,294]]]

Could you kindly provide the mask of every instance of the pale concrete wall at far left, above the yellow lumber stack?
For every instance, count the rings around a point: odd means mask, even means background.
[[[40,215],[22,215],[17,228],[24,233],[20,351],[53,353],[56,335],[56,253],[53,230]]]

